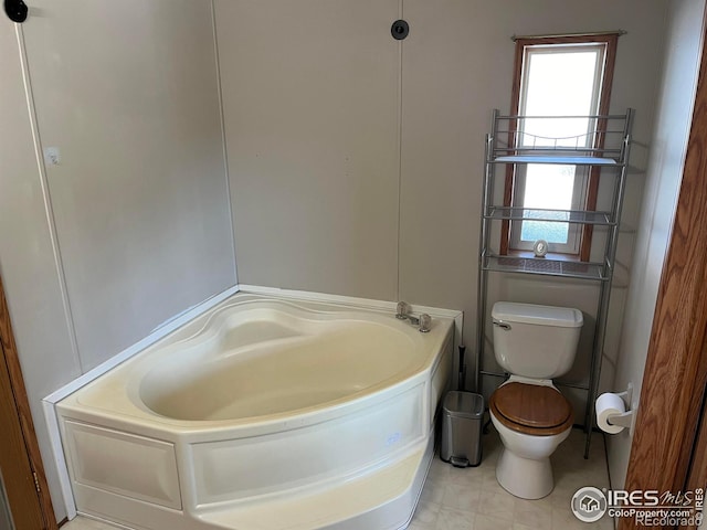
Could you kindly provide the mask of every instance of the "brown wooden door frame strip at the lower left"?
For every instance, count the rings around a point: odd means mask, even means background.
[[[36,441],[36,434],[34,433],[34,423],[32,421],[32,413],[30,411],[30,402],[27,395],[27,389],[24,386],[24,380],[22,379],[22,369],[20,367],[20,359],[18,357],[18,349],[14,342],[14,335],[12,333],[12,322],[10,320],[10,310],[4,296],[4,287],[2,285],[2,277],[0,276],[0,353],[4,352],[4,362],[8,367],[10,374],[10,384],[14,394],[14,402],[20,420],[20,428],[24,436],[24,444],[30,459],[30,465],[36,474],[36,483],[39,484],[39,502],[42,511],[42,519],[44,520],[44,528],[46,530],[56,530],[56,518],[54,517],[54,509],[52,507],[52,499],[49,492],[49,485],[46,484],[46,475],[44,474],[44,465],[42,464],[42,456],[40,454],[40,446]],[[9,488],[10,485],[6,484]]]

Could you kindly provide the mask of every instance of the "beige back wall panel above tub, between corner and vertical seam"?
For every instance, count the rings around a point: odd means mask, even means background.
[[[218,0],[241,283],[394,299],[399,0]]]

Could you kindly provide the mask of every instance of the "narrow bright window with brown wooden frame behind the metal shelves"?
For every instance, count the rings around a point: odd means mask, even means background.
[[[511,114],[558,116],[518,120],[518,147],[593,148],[595,121],[582,116],[608,114],[618,34],[519,39]],[[591,226],[563,223],[568,210],[594,210],[599,168],[518,165],[506,174],[506,205],[524,209],[525,218],[558,221],[511,221],[504,225],[502,254],[529,251],[546,240],[551,253],[589,259]],[[551,210],[551,212],[548,212]]]

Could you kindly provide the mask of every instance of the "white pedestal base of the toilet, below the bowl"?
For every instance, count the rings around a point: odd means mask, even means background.
[[[506,491],[521,499],[541,499],[555,488],[549,457],[523,458],[506,447],[498,457],[496,480]]]

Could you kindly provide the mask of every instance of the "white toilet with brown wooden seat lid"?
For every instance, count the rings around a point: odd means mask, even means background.
[[[492,310],[494,353],[510,377],[488,401],[504,449],[496,479],[523,499],[552,491],[550,455],[569,436],[572,405],[552,384],[574,361],[582,312],[498,301]]]

